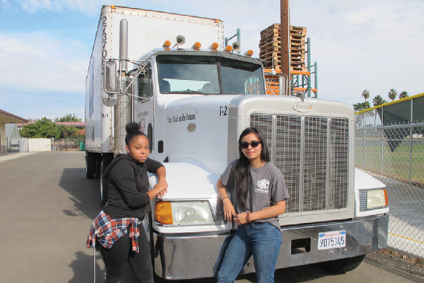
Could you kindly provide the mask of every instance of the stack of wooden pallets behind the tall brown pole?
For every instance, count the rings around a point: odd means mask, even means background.
[[[306,28],[290,25],[290,71],[307,71],[305,65]],[[265,68],[281,70],[281,28],[274,23],[261,31],[259,58],[267,61]]]

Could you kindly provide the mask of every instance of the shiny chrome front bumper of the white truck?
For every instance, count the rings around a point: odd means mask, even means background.
[[[352,258],[387,248],[389,215],[320,224],[283,226],[283,244],[276,268]],[[321,232],[346,230],[346,247],[318,250]],[[167,236],[153,233],[155,273],[165,279],[213,277],[232,234],[184,234]],[[254,272],[253,258],[242,273]]]

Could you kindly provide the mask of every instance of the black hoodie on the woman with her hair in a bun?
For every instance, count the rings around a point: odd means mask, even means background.
[[[126,154],[119,154],[104,173],[109,180],[109,195],[103,211],[113,219],[142,218],[150,212],[147,172],[156,173],[161,166],[151,158],[140,163]]]

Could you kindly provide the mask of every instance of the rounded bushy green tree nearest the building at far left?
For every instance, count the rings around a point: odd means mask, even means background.
[[[59,139],[60,131],[52,120],[42,117],[33,124],[23,125],[20,135],[28,138]]]

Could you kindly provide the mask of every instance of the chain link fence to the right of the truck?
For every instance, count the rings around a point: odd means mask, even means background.
[[[387,186],[389,248],[424,257],[424,97],[358,112],[355,165]]]

